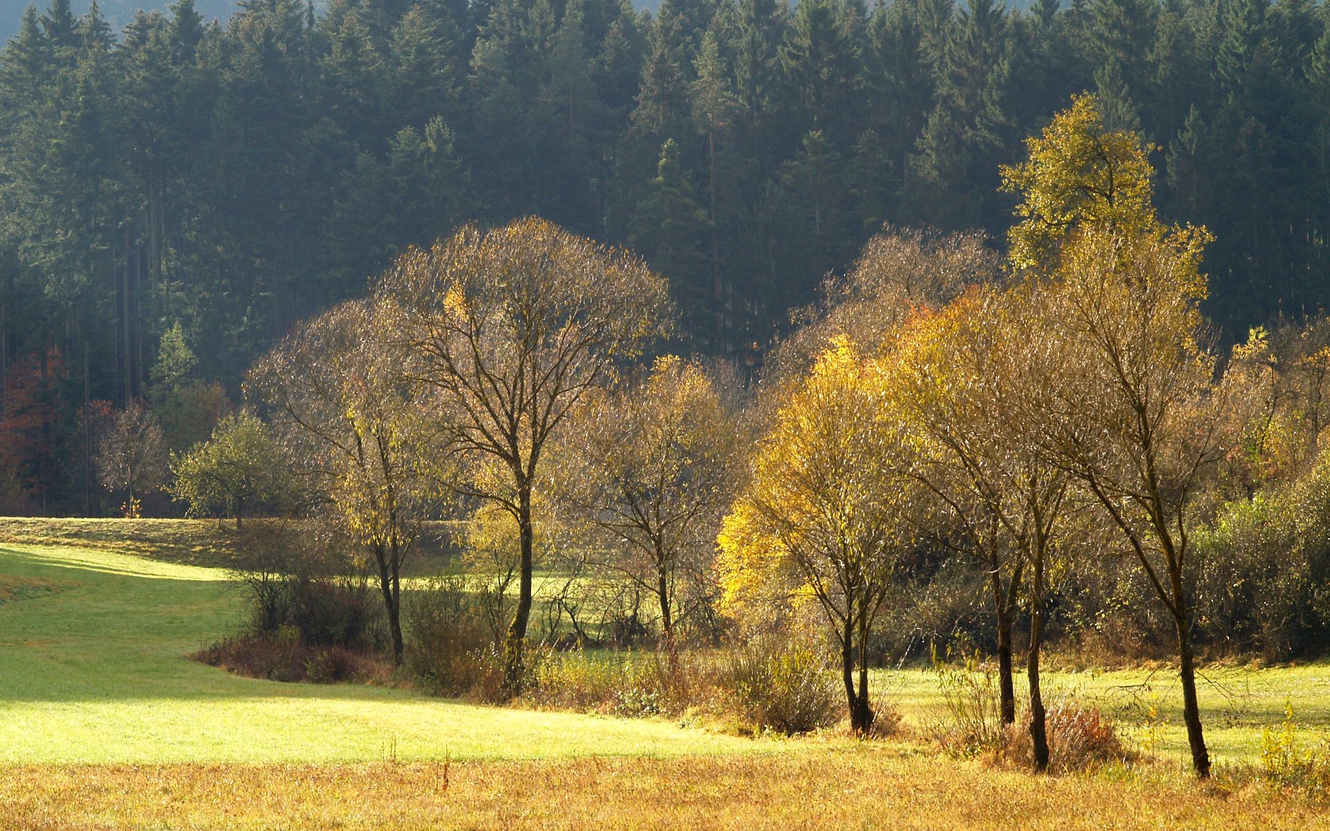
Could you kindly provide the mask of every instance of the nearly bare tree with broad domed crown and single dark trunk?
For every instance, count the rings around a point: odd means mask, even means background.
[[[628,251],[537,218],[466,227],[390,269],[378,297],[408,375],[446,415],[440,427],[473,469],[463,489],[507,511],[521,549],[505,644],[505,689],[521,686],[532,605],[532,492],[551,435],[617,362],[665,332],[665,281]]]

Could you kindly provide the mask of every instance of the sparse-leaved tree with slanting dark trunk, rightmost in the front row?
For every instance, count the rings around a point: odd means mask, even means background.
[[[1119,528],[1173,620],[1192,763],[1210,770],[1196,694],[1189,585],[1194,500],[1222,452],[1222,386],[1197,304],[1204,233],[1069,241],[1045,295],[1051,392],[1035,435]]]

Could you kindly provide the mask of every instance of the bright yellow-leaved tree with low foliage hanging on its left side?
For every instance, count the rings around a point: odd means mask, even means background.
[[[789,394],[718,537],[722,605],[742,617],[773,592],[815,600],[841,648],[850,725],[872,726],[867,636],[914,544],[918,484],[890,416],[890,358],[833,340]],[[858,685],[855,674],[858,673]]]

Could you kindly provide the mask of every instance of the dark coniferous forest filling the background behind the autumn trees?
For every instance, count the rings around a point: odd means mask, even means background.
[[[1097,93],[1225,342],[1330,294],[1330,28],[1305,0],[193,0],[28,8],[0,53],[0,512],[98,513],[92,432],[185,449],[395,253],[540,215],[759,366],[884,223],[1001,246],[1000,165]]]

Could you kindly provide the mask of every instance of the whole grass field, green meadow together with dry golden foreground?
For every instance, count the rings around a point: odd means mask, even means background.
[[[1330,828],[1242,776],[1192,780],[1166,667],[1055,674],[1129,735],[1154,703],[1160,762],[1040,778],[939,757],[928,670],[879,673],[906,730],[868,743],[229,675],[185,657],[241,622],[226,558],[145,553],[0,536],[0,828]],[[1325,665],[1206,671],[1221,766],[1253,763],[1289,701],[1330,729]]]

